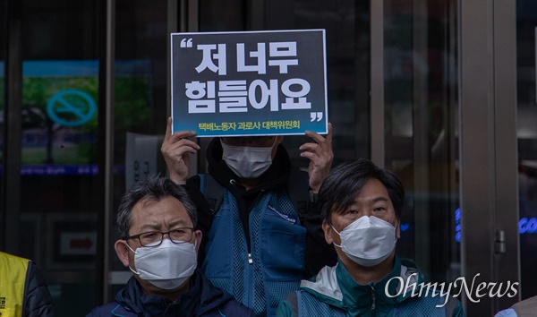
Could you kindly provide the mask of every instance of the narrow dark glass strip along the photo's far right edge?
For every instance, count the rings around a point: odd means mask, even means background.
[[[537,295],[537,3],[516,1],[516,92],[522,299]]]

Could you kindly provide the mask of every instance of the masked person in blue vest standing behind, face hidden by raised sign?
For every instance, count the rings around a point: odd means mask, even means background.
[[[281,135],[221,137],[207,149],[208,174],[188,177],[200,150],[192,131],[172,134],[168,119],[161,152],[170,178],[184,184],[198,208],[200,267],[217,286],[273,316],[278,302],[337,256],[321,229],[316,194],[332,164],[332,126],[299,150],[308,172],[291,166]]]

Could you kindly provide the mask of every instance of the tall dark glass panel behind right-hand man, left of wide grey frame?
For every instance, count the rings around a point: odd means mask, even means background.
[[[397,247],[431,281],[453,280],[460,276],[462,213],[456,211],[456,1],[386,1],[384,10],[385,159],[407,194],[401,221],[408,227]]]

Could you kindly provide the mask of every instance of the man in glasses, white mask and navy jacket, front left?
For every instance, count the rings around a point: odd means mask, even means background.
[[[186,192],[163,177],[134,184],[119,206],[115,253],[133,276],[88,316],[251,316],[197,266],[201,232]]]

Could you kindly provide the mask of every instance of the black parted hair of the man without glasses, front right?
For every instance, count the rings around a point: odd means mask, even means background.
[[[334,167],[320,186],[318,203],[322,216],[332,223],[332,212],[341,213],[354,203],[363,185],[371,178],[378,179],[388,191],[397,219],[401,219],[405,189],[401,180],[387,167],[378,167],[369,159],[358,159]]]

